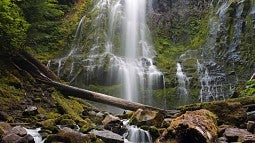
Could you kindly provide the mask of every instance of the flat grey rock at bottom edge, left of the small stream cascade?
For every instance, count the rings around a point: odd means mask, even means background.
[[[124,143],[124,139],[122,136],[108,130],[92,130],[90,134],[96,135],[98,138],[102,139],[106,143]]]

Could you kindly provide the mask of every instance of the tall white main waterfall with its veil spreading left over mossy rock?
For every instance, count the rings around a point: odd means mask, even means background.
[[[58,75],[68,76],[78,86],[120,84],[122,98],[153,104],[152,89],[163,88],[164,84],[163,74],[153,64],[155,51],[146,24],[147,6],[146,0],[99,0],[92,10],[97,13],[92,22],[94,31],[87,34],[93,39],[92,48],[83,59],[84,16],[71,51],[58,59]]]

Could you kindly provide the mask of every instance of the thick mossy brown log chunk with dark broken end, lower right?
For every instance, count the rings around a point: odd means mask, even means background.
[[[217,137],[216,116],[205,109],[187,111],[175,118],[168,130],[173,131],[179,142],[214,142]]]

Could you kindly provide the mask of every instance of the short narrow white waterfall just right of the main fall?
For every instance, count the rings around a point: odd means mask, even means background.
[[[180,63],[176,64],[176,77],[178,80],[178,90],[179,90],[179,96],[185,100],[188,96],[188,90],[187,90],[187,82],[188,78],[186,74],[182,70],[182,65]]]

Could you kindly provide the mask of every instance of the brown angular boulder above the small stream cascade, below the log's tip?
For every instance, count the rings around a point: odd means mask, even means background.
[[[138,109],[131,117],[130,124],[160,127],[163,120],[164,115],[160,112]]]

